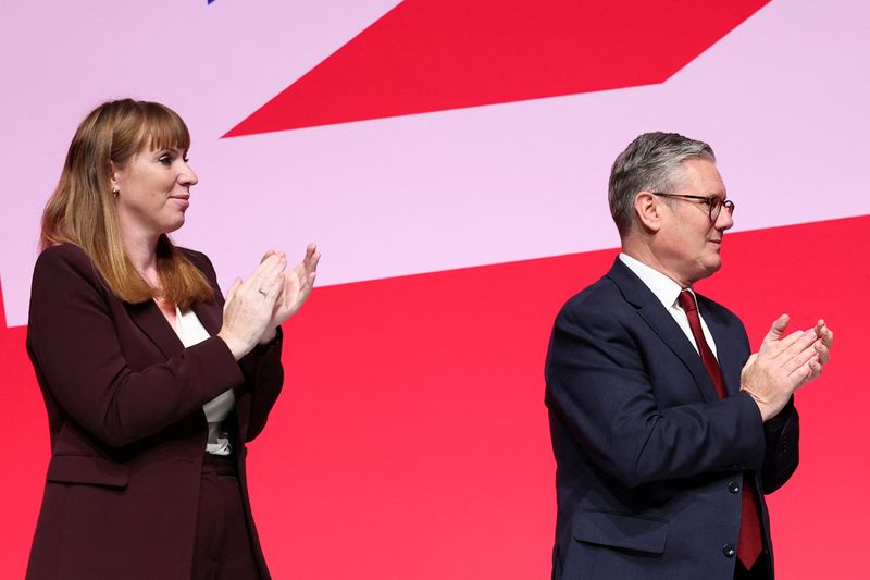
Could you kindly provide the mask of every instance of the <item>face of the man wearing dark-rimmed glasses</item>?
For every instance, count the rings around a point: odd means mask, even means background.
[[[682,180],[673,195],[726,198],[725,184],[716,165],[705,159],[681,163]],[[658,198],[662,203],[661,230],[656,236],[656,254],[671,276],[683,286],[705,279],[722,266],[720,250],[725,230],[734,225],[731,212],[721,208],[714,222],[709,206],[684,198]]]

